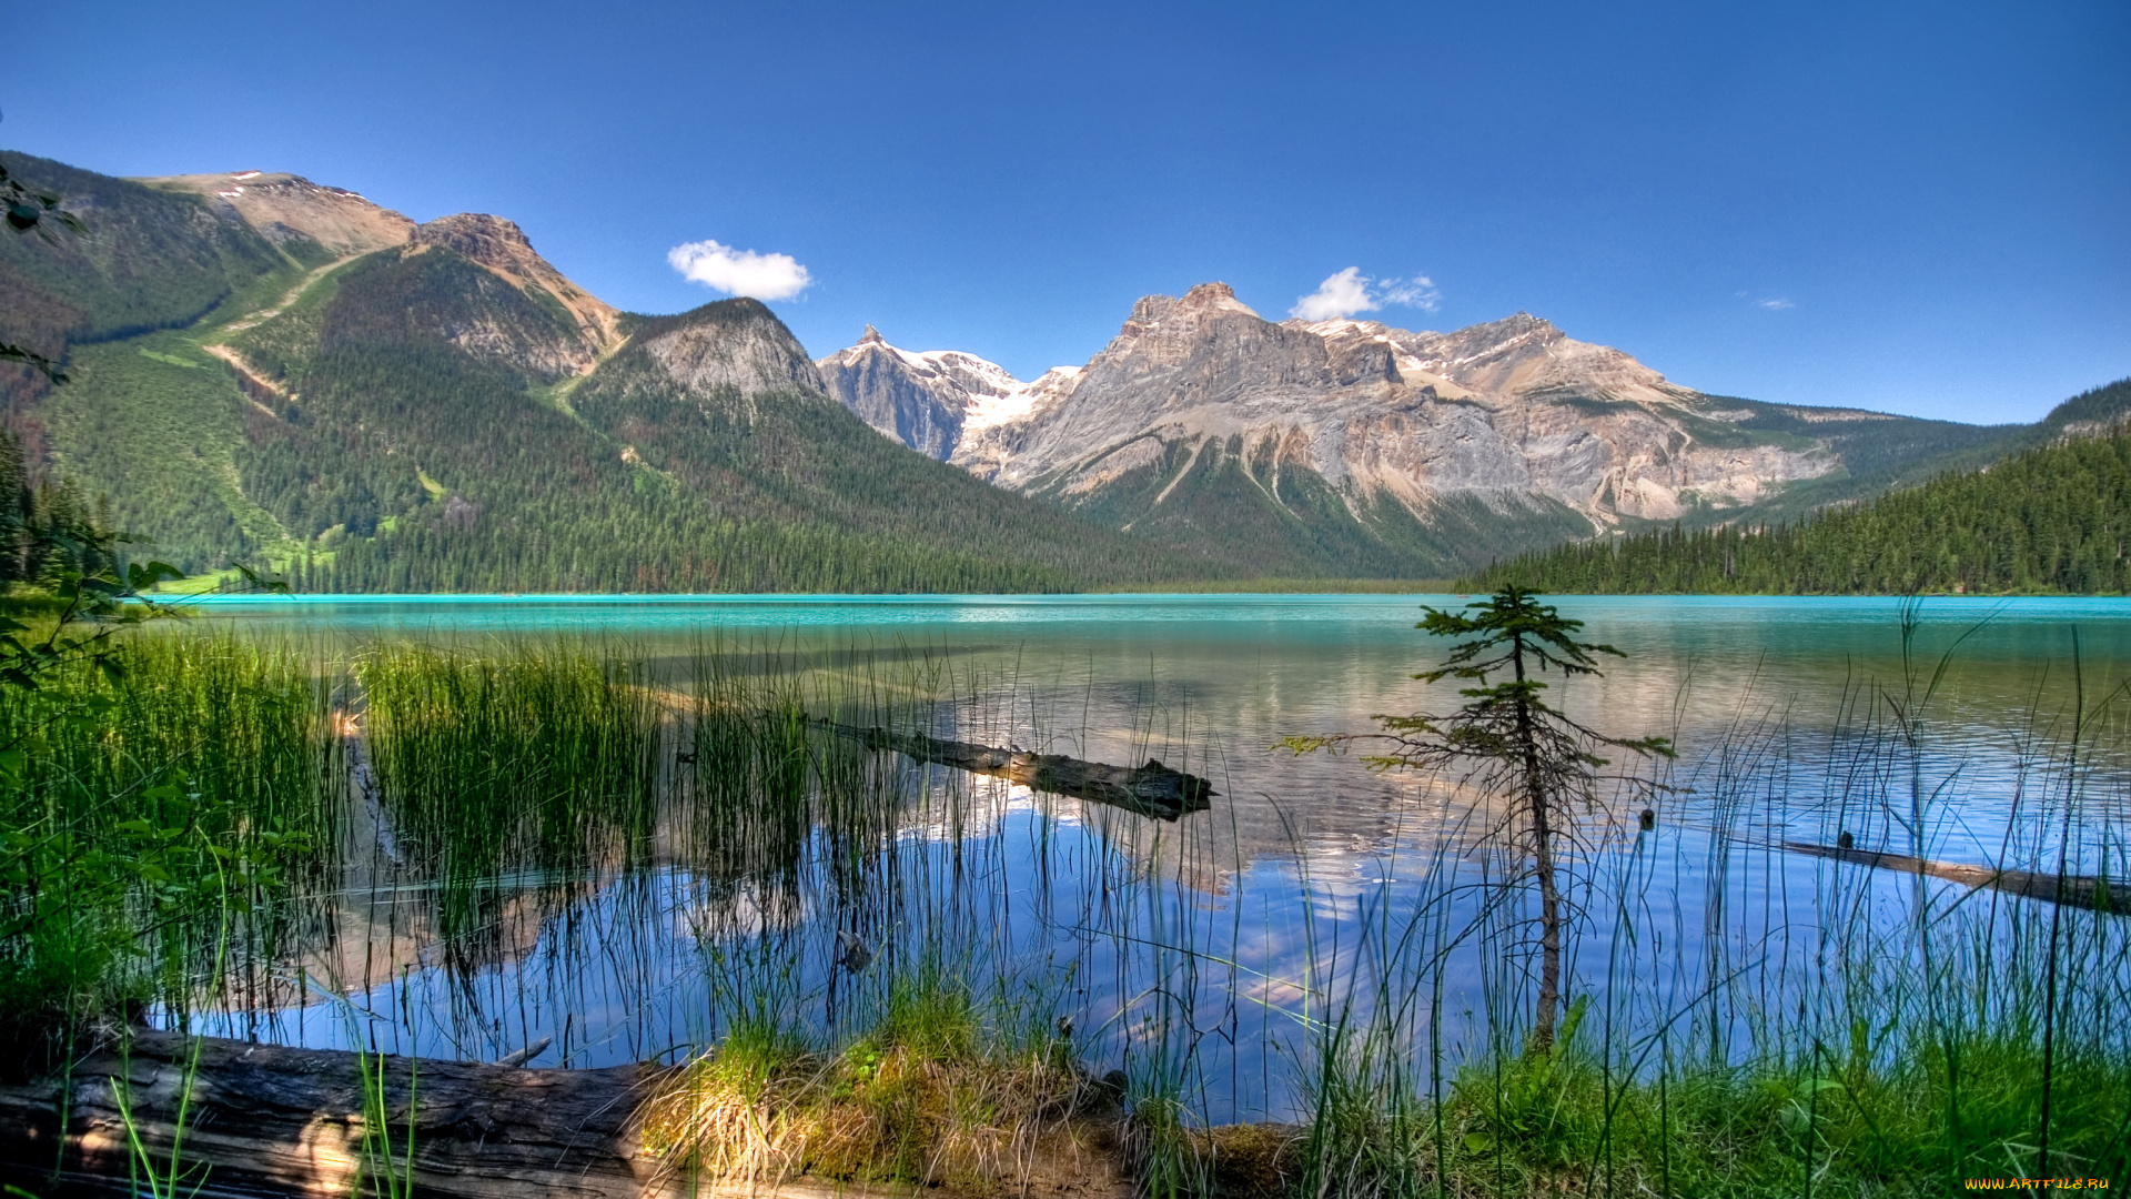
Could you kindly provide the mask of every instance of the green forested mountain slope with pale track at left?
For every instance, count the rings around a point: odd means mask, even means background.
[[[188,570],[254,561],[337,591],[1042,591],[1232,570],[880,439],[754,301],[627,318],[499,218],[401,228],[290,177],[266,177],[269,205],[230,194],[251,173],[9,166],[87,224],[0,258],[26,297],[13,320],[72,375],[17,380],[9,427],[32,471],[107,495]]]

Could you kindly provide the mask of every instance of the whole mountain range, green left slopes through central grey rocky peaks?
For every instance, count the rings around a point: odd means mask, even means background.
[[[1677,386],[1528,314],[1272,322],[1138,301],[1023,382],[761,303],[618,311],[497,215],[258,171],[9,156],[83,235],[0,239],[32,471],[188,570],[341,591],[1044,591],[1445,578],[1654,523],[1779,518],[2046,439]]]

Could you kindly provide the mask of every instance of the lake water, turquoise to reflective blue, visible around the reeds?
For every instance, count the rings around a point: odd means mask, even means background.
[[[1042,992],[1087,1030],[1097,1073],[1174,1052],[1155,1033],[1168,1045],[1183,1026],[1208,1118],[1291,1116],[1308,1011],[1343,975],[1385,969],[1370,928],[1424,909],[1445,930],[1507,920],[1487,888],[1468,885],[1500,862],[1473,843],[1487,819],[1455,779],[1270,749],[1291,734],[1366,730],[1377,713],[1453,706],[1451,683],[1411,678],[1443,653],[1413,629],[1424,602],[1458,597],[213,602],[217,623],[339,649],[612,640],[654,691],[686,689],[701,653],[735,676],[835,678],[882,704],[929,691],[931,736],[1112,764],[1157,757],[1208,777],[1219,798],[1166,826],[865,753],[837,770],[893,796],[865,817],[886,811],[880,826],[844,828],[816,796],[769,853],[761,830],[699,828],[707,800],[665,779],[673,789],[646,843],[563,870],[533,856],[473,885],[426,877],[396,845],[390,804],[356,798],[339,888],[307,900],[320,932],[283,971],[311,981],[283,979],[196,1026],[486,1060],[554,1037],[535,1065],[609,1065],[688,1052],[763,1005],[829,1033],[878,1001],[869,975],[931,954],[972,979]],[[1634,922],[1675,945],[1722,926],[1698,949],[1703,964],[1752,941],[1752,969],[1767,975],[1756,986],[1782,990],[1831,894],[1899,902],[1916,885],[1786,856],[1784,838],[1833,845],[1852,832],[1865,847],[1954,862],[2054,851],[2065,787],[2052,738],[2078,689],[2108,696],[2131,666],[2131,604],[2118,600],[1924,602],[1907,659],[1894,600],[1558,604],[1626,657],[1556,698],[1594,728],[1666,734],[1681,749],[1654,830],[1637,830],[1641,802],[1588,821],[1588,896],[1613,907],[1585,905],[1583,988],[1622,977],[1609,956]],[[1948,651],[1912,747],[1888,713],[1918,698]],[[2122,706],[2088,721],[2097,755],[2073,866],[2103,851],[2120,862],[2110,828],[2127,813],[2122,734]],[[661,770],[680,770],[678,740],[661,753]],[[737,843],[763,853],[733,853]],[[454,913],[433,902],[439,892]],[[831,971],[837,928],[861,930],[882,962]],[[1509,928],[1492,956],[1481,941],[1443,977],[1438,1018],[1466,1045],[1487,1037],[1475,996],[1522,952]],[[1701,986],[1677,962],[1666,969],[1626,1001],[1658,1011]],[[349,1003],[320,1001],[322,990]]]

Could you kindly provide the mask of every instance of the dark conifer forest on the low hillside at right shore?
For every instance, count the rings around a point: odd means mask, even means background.
[[[1939,476],[1794,525],[1654,529],[1458,582],[1553,593],[1905,595],[2131,591],[2131,427]]]

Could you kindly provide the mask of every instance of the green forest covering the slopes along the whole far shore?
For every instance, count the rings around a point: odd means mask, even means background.
[[[17,582],[75,533],[124,533],[134,557],[245,563],[300,591],[1206,589],[1432,578],[1490,546],[1558,548],[1464,587],[2127,589],[2120,437],[2067,437],[2118,422],[2131,384],[2005,427],[1707,397],[1730,425],[1696,437],[1818,444],[1831,469],[1752,510],[1600,540],[1573,540],[1590,525],[1556,501],[1445,499],[1421,521],[1240,442],[1172,452],[1100,501],[1019,495],[806,386],[682,386],[646,348],[682,333],[799,363],[757,301],[624,316],[629,337],[580,373],[586,331],[554,297],[450,247],[337,260],[196,194],[9,169],[87,213],[81,233],[0,239],[0,341],[66,365],[55,384],[0,363]]]

